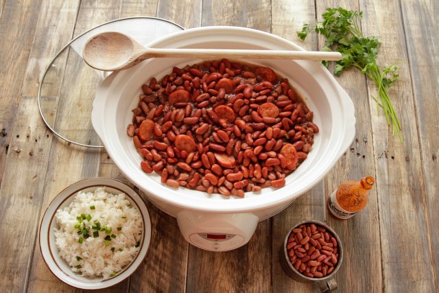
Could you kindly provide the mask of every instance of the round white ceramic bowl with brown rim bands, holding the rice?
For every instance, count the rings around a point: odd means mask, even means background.
[[[63,207],[67,207],[73,198],[75,198],[76,194],[78,194],[78,191],[93,192],[97,187],[106,187],[106,192],[109,192],[110,194],[126,194],[132,207],[136,208],[143,218],[143,233],[141,236],[139,253],[134,260],[128,264],[128,266],[126,266],[115,277],[110,277],[109,279],[92,279],[82,277],[80,274],[72,272],[67,262],[60,257],[58,248],[55,244],[54,228],[58,226],[55,220],[56,211]],[[56,198],[49,204],[40,225],[40,249],[49,270],[64,283],[81,289],[94,290],[108,288],[130,277],[145,258],[147,249],[150,246],[150,240],[151,220],[145,202],[143,202],[141,196],[139,196],[134,189],[125,183],[112,178],[88,178],[73,183],[61,191],[60,194],[58,194],[58,196],[56,196]]]

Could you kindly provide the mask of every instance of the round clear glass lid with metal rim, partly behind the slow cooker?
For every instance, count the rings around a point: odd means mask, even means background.
[[[38,89],[38,108],[47,127],[57,137],[88,148],[103,148],[91,125],[97,86],[110,73],[88,67],[82,59],[86,41],[100,32],[122,32],[142,45],[184,30],[176,23],[155,17],[117,19],[80,34],[56,54]]]

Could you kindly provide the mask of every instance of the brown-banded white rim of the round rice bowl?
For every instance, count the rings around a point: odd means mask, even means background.
[[[90,181],[90,183],[93,183],[92,185],[88,185],[85,187],[80,187],[78,189],[75,188],[75,191],[71,194],[64,195],[64,193],[69,189],[74,187],[75,185],[81,185],[84,183],[87,183]],[[132,194],[127,194],[126,191],[122,191],[117,187],[116,185],[123,186],[123,188],[126,188],[132,192]],[[71,198],[71,196],[75,196],[75,194],[78,194],[79,191],[91,188],[91,187],[108,187],[111,189],[117,189],[123,194],[126,194],[137,206],[136,209],[141,213],[143,218],[143,241],[141,242],[141,248],[139,249],[139,252],[137,253],[136,257],[126,266],[123,268],[122,272],[120,274],[117,274],[115,277],[111,277],[109,279],[99,280],[99,283],[84,283],[78,280],[75,280],[75,282],[71,282],[72,279],[67,274],[65,276],[60,277],[58,274],[65,274],[64,271],[58,266],[56,261],[54,260],[53,256],[51,255],[51,249],[49,247],[49,228],[51,226],[51,222],[54,218],[54,213],[56,213],[57,209],[62,205],[68,198]],[[133,198],[135,196],[136,198]],[[54,210],[54,213],[52,215],[49,215],[47,211],[49,209],[54,207],[54,204],[57,200],[60,200],[62,198],[62,201],[60,204],[58,204],[58,207]],[[48,219],[50,217],[50,219]],[[47,223],[47,225],[45,224]],[[44,224],[44,226],[43,226]],[[47,227],[46,227],[47,226]],[[42,235],[43,229],[47,228],[47,233],[45,235]],[[54,274],[54,276],[62,281],[63,283],[66,283],[67,285],[71,285],[74,288],[79,289],[85,289],[85,290],[99,290],[104,288],[109,288],[114,285],[117,285],[118,283],[121,283],[122,281],[128,279],[134,272],[139,268],[145,257],[147,256],[147,253],[150,248],[150,242],[152,238],[152,228],[151,228],[151,219],[150,219],[150,213],[147,210],[145,200],[143,200],[142,196],[132,189],[130,185],[124,183],[121,180],[115,179],[115,178],[109,178],[109,177],[91,177],[91,178],[85,178],[82,180],[78,180],[75,183],[72,183],[71,185],[65,187],[62,189],[53,200],[51,200],[50,204],[47,206],[45,213],[43,215],[43,218],[40,222],[40,227],[38,231],[39,235],[39,244],[40,244],[40,253],[43,257],[43,261],[46,263],[47,268],[49,268],[50,272]],[[43,237],[42,237],[43,236]],[[43,240],[42,240],[43,239]],[[46,240],[47,239],[47,240]],[[43,252],[43,245],[45,246],[45,249],[47,249],[47,252]],[[47,246],[47,247],[46,247]],[[56,252],[58,253],[58,252]],[[47,261],[46,258],[49,258],[50,261]],[[50,263],[50,264],[49,264]]]

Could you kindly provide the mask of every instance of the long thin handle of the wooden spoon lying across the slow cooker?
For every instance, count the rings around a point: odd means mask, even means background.
[[[246,50],[246,49],[154,49],[145,52],[148,58],[187,57],[187,58],[246,58],[246,59],[283,59],[283,60],[330,60],[342,58],[339,52],[327,51],[283,51],[283,50]]]

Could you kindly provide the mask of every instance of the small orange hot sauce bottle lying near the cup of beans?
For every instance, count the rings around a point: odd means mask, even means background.
[[[349,219],[368,203],[368,191],[375,183],[371,176],[349,180],[340,185],[328,198],[328,209],[335,218]]]

